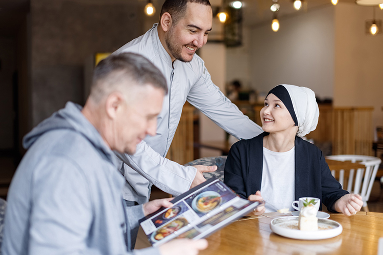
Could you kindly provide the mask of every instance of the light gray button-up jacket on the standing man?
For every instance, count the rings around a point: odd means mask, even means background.
[[[121,171],[127,180],[123,194],[126,200],[138,203],[148,201],[150,182],[173,195],[189,190],[196,168],[165,159],[186,100],[238,139],[250,139],[263,132],[212,83],[204,61],[198,55],[188,63],[179,60],[172,63],[159,40],[157,24],[115,54],[121,52],[134,52],[148,58],[161,70],[169,89],[158,116],[157,135],[145,138],[133,156],[118,155],[125,163]]]

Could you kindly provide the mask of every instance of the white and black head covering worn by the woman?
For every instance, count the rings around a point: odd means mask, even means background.
[[[289,110],[295,125],[298,126],[297,136],[304,137],[316,129],[319,108],[313,90],[281,84],[270,90],[269,94],[278,97]]]

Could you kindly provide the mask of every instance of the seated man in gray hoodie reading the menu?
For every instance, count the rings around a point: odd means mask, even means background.
[[[112,150],[133,154],[156,134],[166,81],[137,54],[111,56],[93,74],[83,109],[68,102],[23,140],[28,152],[8,193],[3,254],[197,254],[206,240],[130,252],[125,233],[169,199],[126,208]]]

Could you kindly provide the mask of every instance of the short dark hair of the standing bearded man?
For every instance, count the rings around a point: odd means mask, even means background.
[[[169,12],[173,23],[176,24],[185,15],[187,3],[211,6],[209,0],[165,0],[162,5],[160,19],[162,14]]]

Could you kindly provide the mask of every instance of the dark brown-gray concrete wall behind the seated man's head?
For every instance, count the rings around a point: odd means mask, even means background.
[[[83,104],[83,64],[142,34],[145,3],[121,0],[31,0],[32,125]]]

